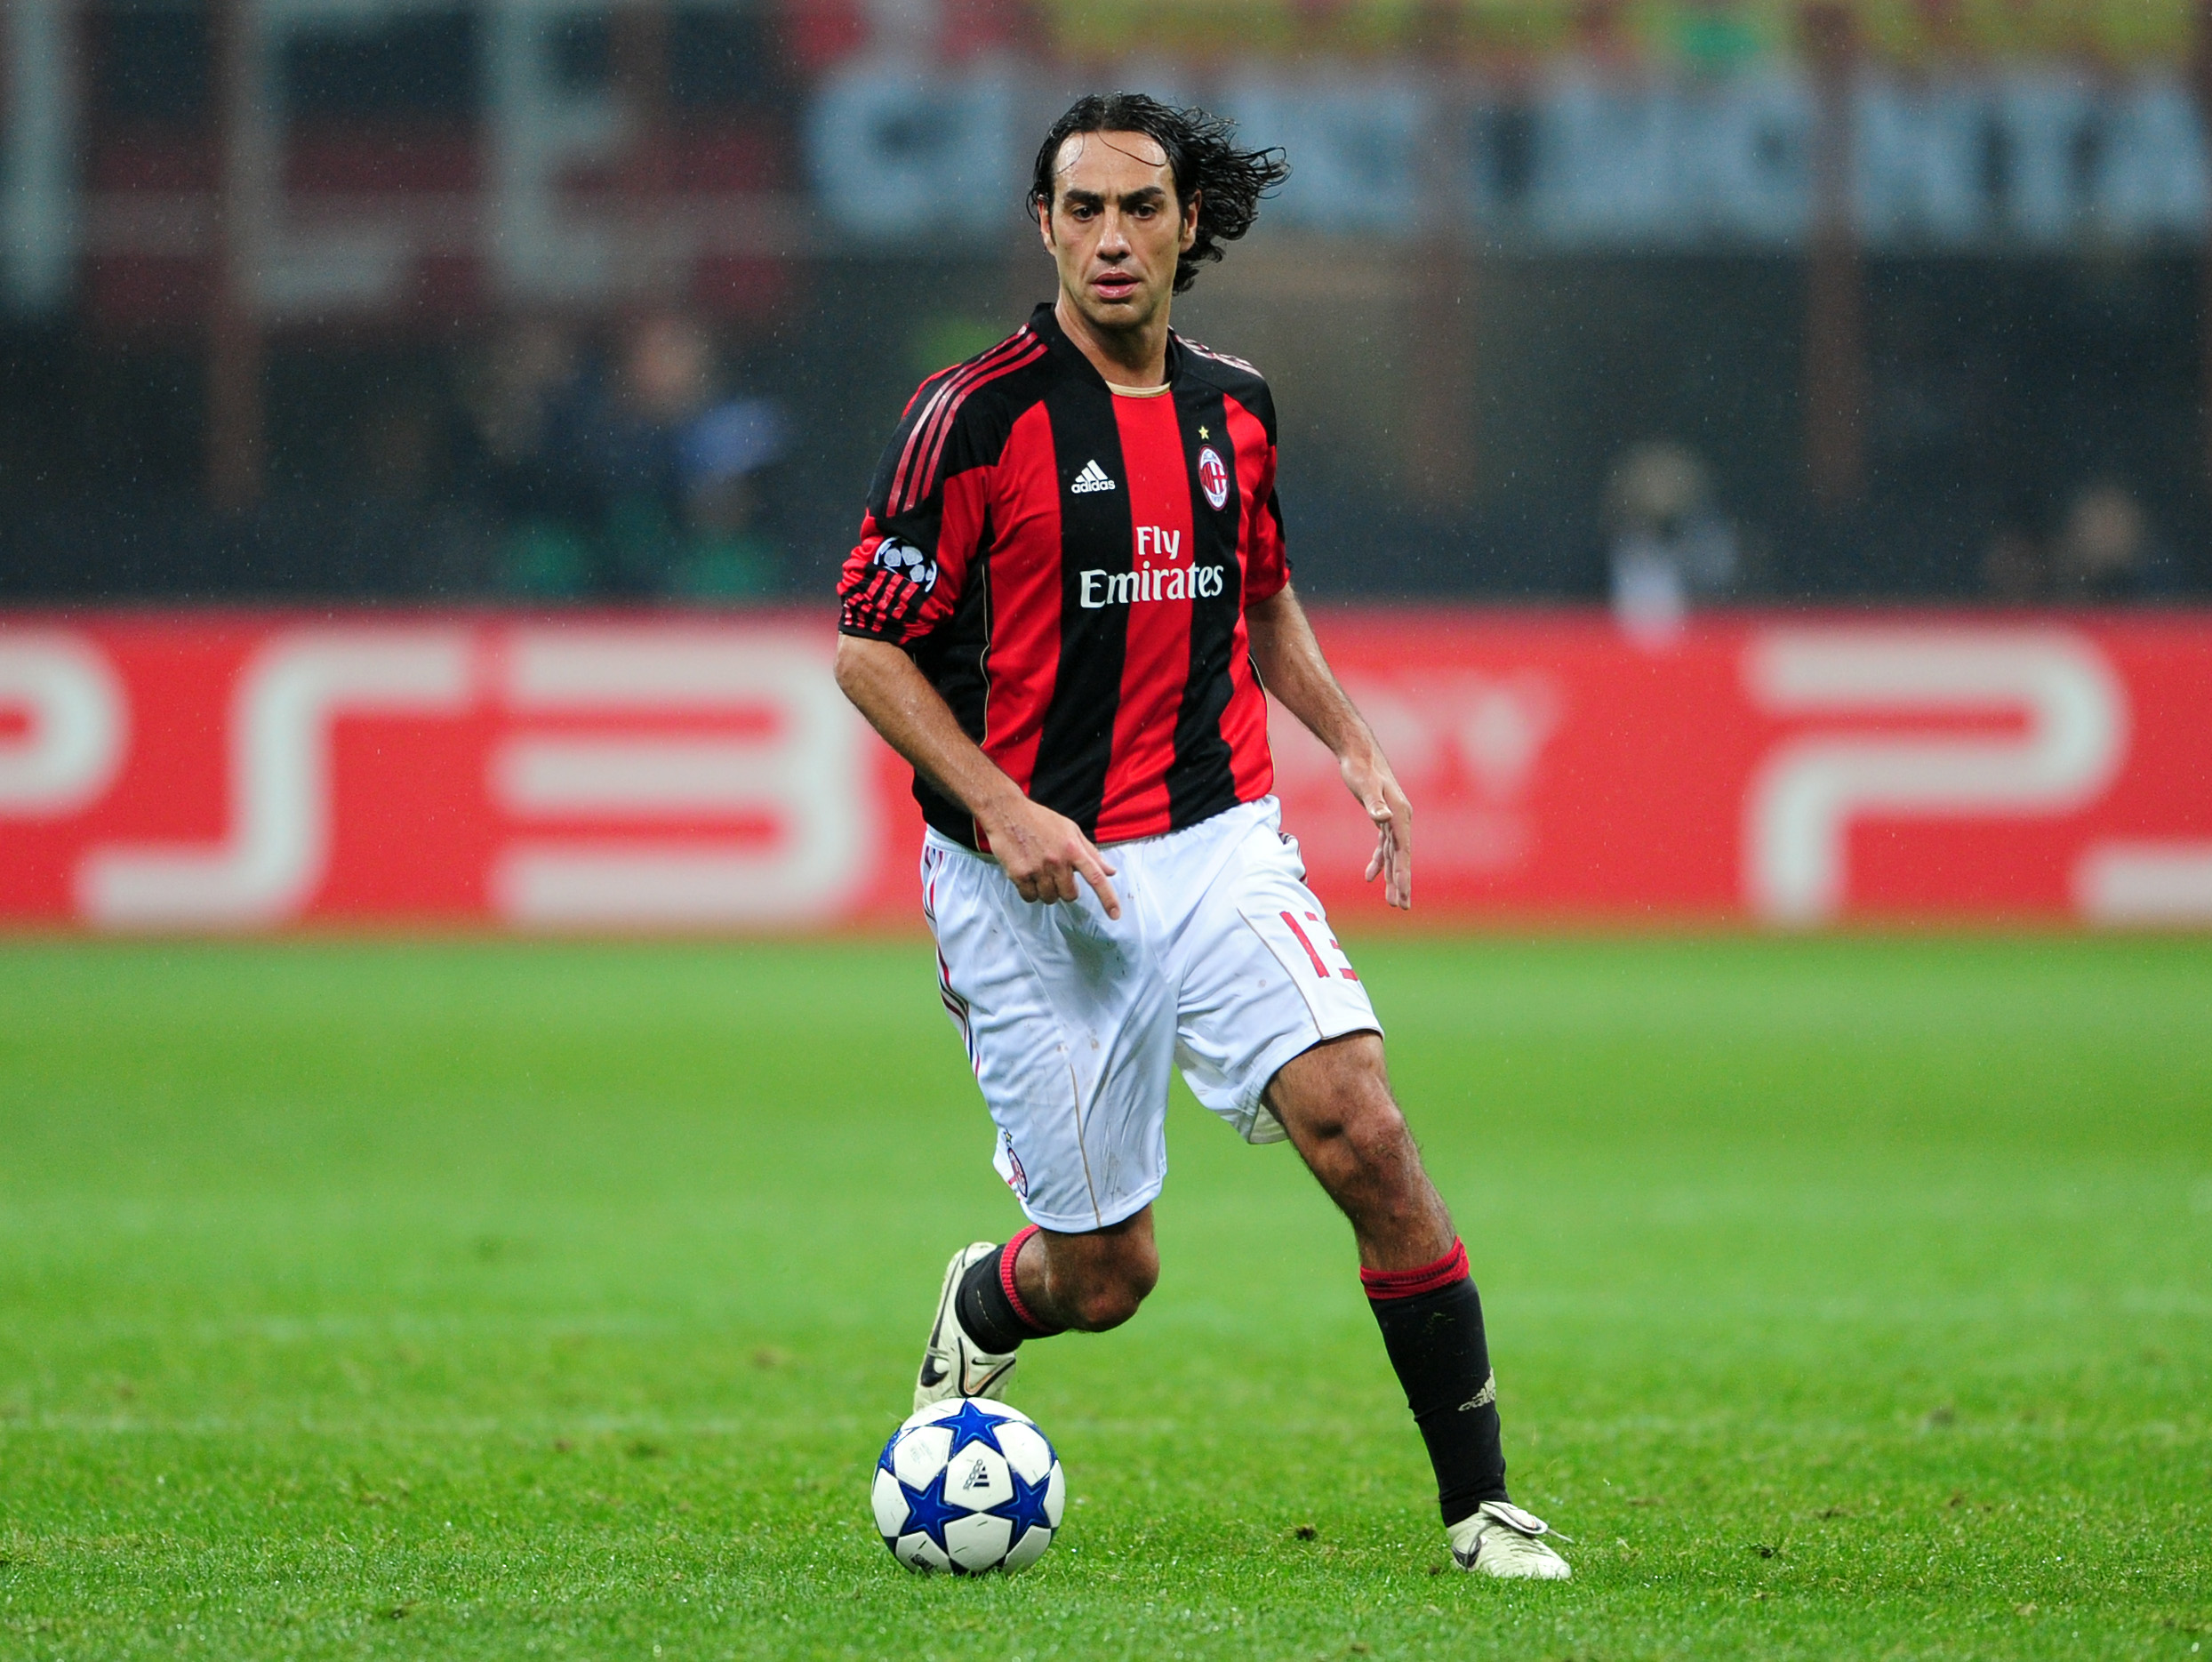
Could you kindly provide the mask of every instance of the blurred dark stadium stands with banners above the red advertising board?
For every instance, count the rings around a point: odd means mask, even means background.
[[[2212,589],[2205,0],[9,0],[0,602],[821,595],[1079,89],[1323,595]]]

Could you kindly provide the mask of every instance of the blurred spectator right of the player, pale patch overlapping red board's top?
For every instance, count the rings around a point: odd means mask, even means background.
[[[1736,529],[1712,505],[1705,465],[1683,445],[1635,445],[1606,485],[1613,617],[1644,646],[1672,642],[1692,602],[1736,582]]]

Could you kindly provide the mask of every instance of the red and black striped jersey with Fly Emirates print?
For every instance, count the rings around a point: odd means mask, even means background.
[[[1245,606],[1290,575],[1274,401],[1170,336],[1110,387],[1051,305],[922,383],[869,487],[843,631],[905,646],[984,755],[1099,843],[1274,788]],[[947,837],[967,810],[914,794]]]

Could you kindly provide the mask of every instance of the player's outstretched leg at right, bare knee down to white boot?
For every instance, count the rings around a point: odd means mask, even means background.
[[[1453,1556],[1493,1576],[1566,1576],[1566,1560],[1540,1540],[1544,1523],[1506,1496],[1482,1297],[1391,1095],[1383,1038],[1314,1045],[1281,1067],[1265,1100],[1352,1222],[1360,1284],[1429,1445]]]

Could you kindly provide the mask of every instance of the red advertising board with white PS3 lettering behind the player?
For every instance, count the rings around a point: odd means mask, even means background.
[[[2212,925],[2212,615],[1318,615],[1416,918]],[[0,617],[0,923],[914,925],[816,615]],[[1343,914],[1365,814],[1276,710]]]

